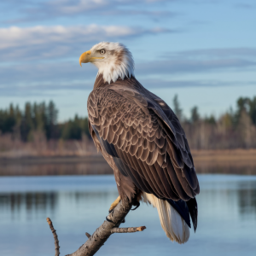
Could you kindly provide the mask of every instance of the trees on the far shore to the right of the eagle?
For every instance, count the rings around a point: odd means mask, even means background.
[[[193,149],[256,148],[256,96],[240,97],[236,109],[220,115],[202,117],[195,106],[190,118],[183,116],[177,96],[173,98],[174,112]]]

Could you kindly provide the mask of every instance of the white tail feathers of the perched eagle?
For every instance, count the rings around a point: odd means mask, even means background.
[[[152,194],[143,193],[143,201],[157,208],[160,224],[166,236],[172,241],[184,243],[189,240],[189,226],[179,213],[165,200],[160,200]]]

